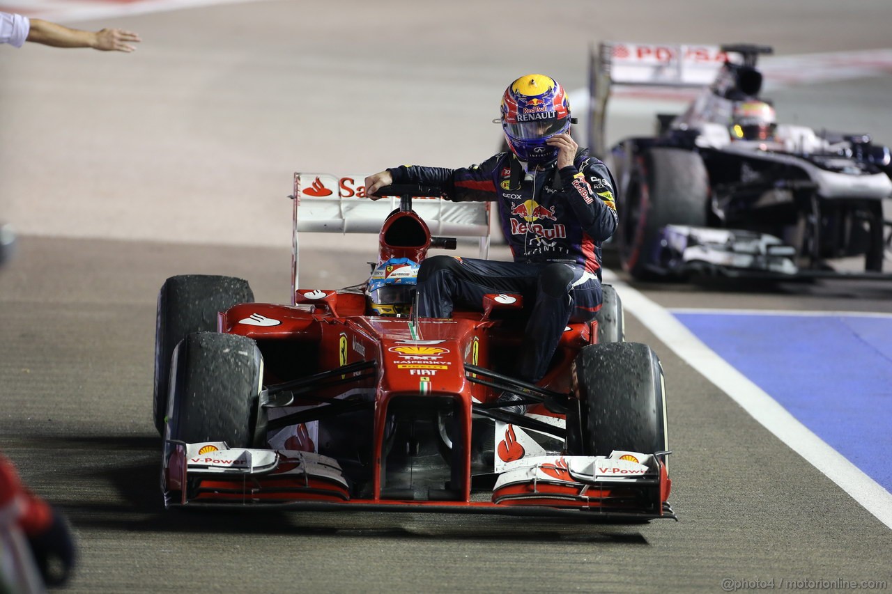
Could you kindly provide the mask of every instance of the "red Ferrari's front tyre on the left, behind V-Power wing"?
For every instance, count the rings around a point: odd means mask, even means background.
[[[174,351],[176,374],[167,408],[168,440],[226,441],[230,448],[263,445],[257,418],[263,358],[257,343],[236,334],[189,334]]]

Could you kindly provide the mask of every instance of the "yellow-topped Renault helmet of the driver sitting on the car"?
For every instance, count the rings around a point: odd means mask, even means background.
[[[530,165],[558,158],[545,141],[570,129],[570,102],[564,87],[544,74],[517,78],[502,95],[501,125],[508,147]]]

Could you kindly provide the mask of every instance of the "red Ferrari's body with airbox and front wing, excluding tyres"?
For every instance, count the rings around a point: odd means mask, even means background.
[[[296,193],[296,191],[295,191]],[[406,237],[411,237],[406,241]],[[397,211],[385,220],[380,234],[379,262],[389,258],[424,260],[431,246],[431,234],[425,222],[412,211]],[[649,480],[636,483],[574,483],[565,470],[549,465],[545,479],[531,485],[512,484],[493,491],[475,491],[472,480],[475,462],[472,452],[479,440],[475,433],[475,404],[495,400],[500,391],[469,379],[466,365],[509,373],[514,353],[523,338],[520,317],[520,295],[488,295],[483,311],[457,311],[450,319],[389,318],[370,316],[366,296],[362,293],[335,290],[296,289],[291,305],[244,303],[219,313],[219,332],[241,334],[256,341],[264,357],[265,386],[282,384],[353,364],[368,363],[363,370],[340,374],[340,383],[320,384],[304,392],[288,406],[304,409],[326,406],[325,403],[345,399],[351,393],[368,395],[371,429],[368,439],[361,434],[355,441],[368,446],[360,452],[368,467],[364,489],[357,480],[346,481],[337,474],[311,474],[301,466],[301,451],[338,458],[329,453],[332,446],[327,436],[308,432],[312,422],[294,425],[285,448],[275,448],[275,463],[268,470],[244,474],[199,474],[192,476],[186,445],[174,444],[165,466],[165,491],[178,495],[180,504],[213,503],[279,503],[319,507],[412,506],[417,509],[508,510],[524,513],[578,513],[580,509],[594,516],[660,517],[672,516],[666,504],[669,479],[660,458],[653,458]],[[258,323],[260,320],[260,323]],[[573,392],[571,364],[582,347],[597,342],[596,321],[570,324],[558,344],[549,373],[539,385],[553,392]],[[343,402],[343,400],[340,400]],[[431,489],[428,497],[407,496],[405,490],[392,489],[388,481],[388,434],[394,430],[395,409],[425,411],[446,407],[450,411],[450,448],[453,458],[448,475],[442,481],[447,488]],[[536,405],[527,412],[544,422],[564,417]],[[479,420],[479,417],[478,417]],[[336,426],[336,422],[331,422]],[[317,431],[318,431],[317,425]],[[492,443],[491,456],[501,456],[510,463],[523,457],[523,448],[513,443],[514,425],[505,425],[505,437]],[[494,432],[494,429],[491,429]],[[489,439],[492,439],[490,433]],[[354,436],[342,436],[353,441]],[[272,438],[270,437],[270,442]],[[325,441],[325,442],[320,442]],[[335,440],[336,441],[336,440]],[[408,441],[409,442],[409,441]],[[408,447],[408,446],[407,446]],[[217,450],[212,445],[207,449]],[[558,447],[558,451],[561,448]],[[557,462],[558,466],[562,464]],[[553,466],[553,465],[552,465]],[[558,466],[555,466],[556,468]],[[295,467],[304,472],[293,474]],[[494,474],[489,470],[490,474]],[[344,471],[344,475],[349,474]],[[483,473],[485,474],[485,473]],[[549,482],[548,476],[554,479]],[[388,478],[390,477],[390,478]],[[194,484],[189,491],[189,480]],[[399,479],[397,479],[399,480]],[[441,492],[442,491],[442,492]],[[523,498],[535,491],[535,502]],[[546,496],[548,495],[548,496]],[[668,511],[667,511],[668,510]],[[532,513],[527,511],[527,513]]]

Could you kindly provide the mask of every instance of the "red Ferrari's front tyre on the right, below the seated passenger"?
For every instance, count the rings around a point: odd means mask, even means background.
[[[587,346],[572,373],[579,408],[567,415],[569,454],[667,450],[663,368],[647,344]]]

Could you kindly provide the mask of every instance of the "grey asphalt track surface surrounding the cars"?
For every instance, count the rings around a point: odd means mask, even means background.
[[[0,448],[70,518],[80,560],[68,591],[892,582],[888,527],[632,316],[627,339],[665,367],[678,523],[161,509],[158,288],[174,274],[226,274],[249,279],[259,301],[286,301],[294,170],[480,161],[498,145],[485,122],[508,81],[541,70],[584,87],[601,39],[805,54],[884,47],[892,22],[880,1],[714,4],[260,2],[78,24],[138,31],[132,55],[0,47],[0,217],[21,232],[0,271]],[[773,96],[782,120],[892,144],[890,92],[881,77]],[[361,241],[314,241],[301,285],[351,285],[368,270]],[[871,283],[634,286],[667,308],[892,311],[892,289]]]

